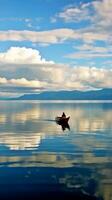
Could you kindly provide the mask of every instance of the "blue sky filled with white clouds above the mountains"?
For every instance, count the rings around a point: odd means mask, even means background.
[[[112,0],[0,0],[0,96],[112,88]]]

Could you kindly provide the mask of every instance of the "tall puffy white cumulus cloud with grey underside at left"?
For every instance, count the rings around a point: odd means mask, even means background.
[[[63,70],[66,71],[66,68],[63,64],[55,64],[53,61],[42,58],[40,52],[36,49],[11,47],[6,52],[0,53],[1,76],[5,76],[7,79],[15,77],[18,82],[21,77],[25,77],[30,81],[61,82],[63,80]],[[2,79],[1,81],[5,80]],[[21,79],[21,81],[28,84],[25,79]],[[32,82],[32,84],[34,85],[35,82]]]

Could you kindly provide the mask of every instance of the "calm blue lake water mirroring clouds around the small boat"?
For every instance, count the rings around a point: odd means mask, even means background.
[[[0,102],[0,199],[47,194],[112,200],[111,103]]]

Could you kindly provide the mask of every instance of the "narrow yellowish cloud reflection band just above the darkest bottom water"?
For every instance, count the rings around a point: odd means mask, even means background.
[[[86,157],[85,157],[86,156]],[[96,157],[93,154],[86,154],[84,157],[80,153],[64,154],[60,153],[48,153],[48,152],[24,152],[24,154],[19,155],[19,152],[13,152],[10,156],[2,155],[0,157],[0,166],[1,167],[53,167],[53,168],[72,168],[74,166],[99,166],[101,169],[105,169],[106,166],[108,169],[103,170],[102,175],[106,175],[108,172],[108,178],[111,179],[111,162],[112,158],[109,157]],[[110,173],[110,175],[109,175]]]

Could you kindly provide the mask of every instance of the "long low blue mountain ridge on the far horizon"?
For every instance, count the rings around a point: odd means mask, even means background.
[[[25,94],[16,100],[112,100],[112,89],[93,91],[46,91],[40,94]]]

